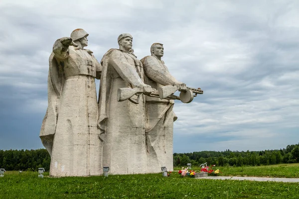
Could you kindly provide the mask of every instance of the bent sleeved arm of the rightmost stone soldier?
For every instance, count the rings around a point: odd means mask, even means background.
[[[147,77],[151,80],[166,86],[166,85],[176,85],[176,84],[183,84],[177,81],[168,71],[161,66],[161,64],[155,58],[147,58],[144,61],[144,71]]]

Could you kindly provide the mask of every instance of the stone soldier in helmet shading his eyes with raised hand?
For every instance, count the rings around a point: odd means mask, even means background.
[[[51,155],[54,177],[102,174],[95,86],[102,66],[84,49],[87,36],[76,29],[71,37],[57,39],[49,58],[48,108],[40,138]]]

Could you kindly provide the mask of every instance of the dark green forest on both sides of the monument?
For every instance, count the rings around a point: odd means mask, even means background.
[[[49,171],[51,158],[46,149],[0,150],[0,168],[6,171],[37,171],[43,167]],[[200,151],[193,153],[174,153],[173,166],[199,166],[207,163],[217,166],[260,166],[281,163],[299,163],[299,143],[288,145],[280,150],[265,151]]]

